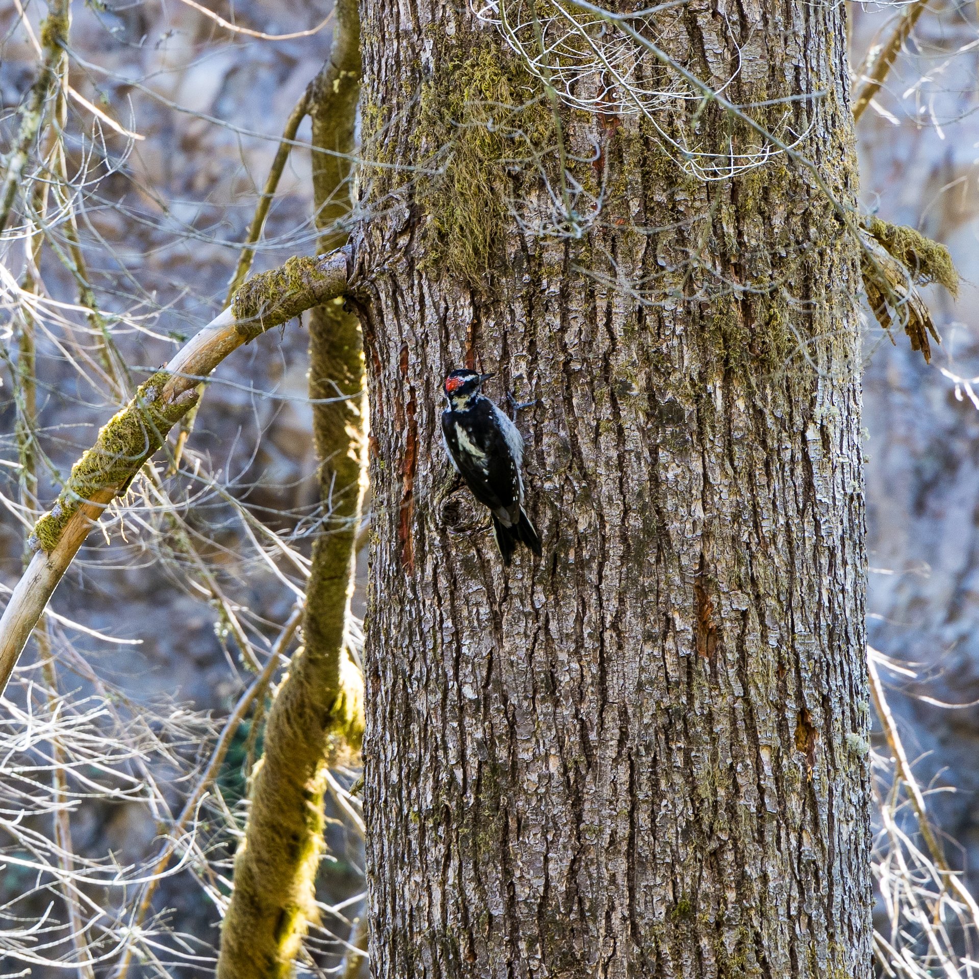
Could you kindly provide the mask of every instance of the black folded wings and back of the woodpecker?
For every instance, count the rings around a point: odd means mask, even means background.
[[[520,474],[502,432],[493,424],[489,400],[467,411],[445,411],[442,430],[448,449],[473,495],[509,526],[520,516]],[[460,445],[460,431],[479,454]]]

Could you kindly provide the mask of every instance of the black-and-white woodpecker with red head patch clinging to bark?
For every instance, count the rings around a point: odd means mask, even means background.
[[[493,536],[509,566],[518,542],[540,556],[540,538],[524,512],[524,440],[517,426],[482,392],[492,374],[453,370],[444,384],[445,452],[473,495],[489,507]]]

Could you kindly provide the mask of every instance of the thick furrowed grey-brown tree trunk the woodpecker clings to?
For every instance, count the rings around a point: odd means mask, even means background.
[[[785,157],[694,179],[614,106],[562,110],[557,134],[462,5],[361,18],[365,156],[445,168],[375,170],[356,243],[373,975],[868,979],[856,243]],[[842,18],[720,0],[657,30],[716,86],[739,66],[735,102],[821,93],[759,118],[809,131],[799,151],[850,207]],[[687,107],[661,125],[750,145]],[[561,195],[513,165],[517,133],[564,139],[603,191],[580,239],[534,233]],[[467,251],[456,206],[481,187]],[[444,460],[463,363],[496,372],[497,401],[536,399],[519,426],[544,558],[509,572]]]

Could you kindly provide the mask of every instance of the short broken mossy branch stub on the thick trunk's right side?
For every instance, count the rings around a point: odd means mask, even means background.
[[[885,330],[897,319],[909,336],[911,350],[920,350],[930,362],[928,335],[942,341],[915,286],[938,282],[957,296],[958,272],[949,250],[913,228],[878,217],[862,220],[861,244],[863,289],[874,316]]]

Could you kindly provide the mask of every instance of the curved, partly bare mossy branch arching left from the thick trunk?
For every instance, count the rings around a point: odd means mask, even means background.
[[[290,259],[256,275],[172,360],[140,386],[72,467],[68,484],[34,529],[37,550],[0,619],[0,694],[34,626],[78,548],[106,506],[128,487],[163,445],[166,433],[189,409],[197,383],[232,351],[303,309],[341,296],[348,285],[350,253]],[[247,290],[247,291],[246,291]],[[284,291],[282,291],[284,290]],[[239,322],[233,309],[243,316]]]

